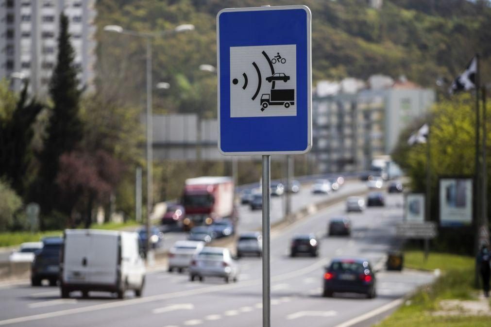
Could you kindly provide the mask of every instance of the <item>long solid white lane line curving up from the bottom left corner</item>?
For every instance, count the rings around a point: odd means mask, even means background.
[[[304,268],[297,269],[297,270],[289,272],[289,273],[274,276],[272,278],[272,280],[273,281],[280,281],[280,280],[285,280],[285,279],[289,279],[292,277],[302,276],[306,273],[312,272],[312,271],[324,266],[328,262],[328,260],[329,260],[329,258],[320,259],[320,260],[318,260],[318,261],[316,261],[316,262],[312,263],[311,265],[306,266]],[[129,300],[125,300],[125,301],[111,301],[111,302],[106,302],[106,303],[87,305],[87,306],[78,307],[78,308],[64,309],[64,310],[40,313],[40,314],[35,314],[35,315],[30,315],[30,316],[4,319],[4,320],[0,320],[0,326],[13,325],[13,324],[25,323],[28,321],[55,318],[55,317],[61,317],[61,316],[68,316],[68,315],[72,315],[72,314],[92,312],[92,311],[97,311],[97,310],[113,309],[113,308],[119,308],[119,307],[128,306],[128,305],[136,305],[136,304],[142,304],[142,303],[148,303],[148,302],[162,301],[162,300],[167,300],[167,299],[175,299],[175,298],[186,297],[186,296],[191,296],[191,295],[214,293],[214,292],[219,292],[219,291],[224,291],[224,290],[250,287],[253,285],[260,285],[260,284],[261,284],[261,279],[251,279],[251,280],[246,280],[246,281],[235,283],[235,284],[222,284],[222,285],[215,285],[215,286],[209,286],[209,287],[205,286],[205,287],[200,287],[198,289],[191,289],[191,290],[185,290],[185,291],[176,291],[176,292],[171,292],[171,293],[157,294],[157,295],[151,295],[151,296],[142,297],[142,298],[129,299]],[[260,304],[262,307],[262,303],[260,303]]]

